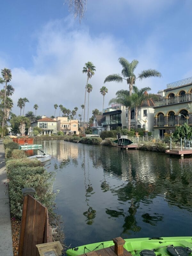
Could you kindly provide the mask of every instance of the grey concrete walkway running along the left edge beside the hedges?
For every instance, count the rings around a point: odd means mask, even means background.
[[[0,139],[0,255],[13,256],[7,174],[3,139]]]

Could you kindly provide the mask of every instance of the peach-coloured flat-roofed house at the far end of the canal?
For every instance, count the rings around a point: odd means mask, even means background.
[[[64,132],[64,134],[79,134],[78,131],[78,120],[71,120],[68,117],[56,117],[57,131]]]

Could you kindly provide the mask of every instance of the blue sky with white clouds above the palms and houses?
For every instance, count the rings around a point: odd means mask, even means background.
[[[85,62],[96,66],[89,81],[90,115],[102,108],[100,88],[106,76],[121,72],[119,57],[139,60],[135,71],[155,68],[162,78],[137,81],[153,93],[167,83],[192,76],[191,0],[88,0],[79,24],[64,0],[1,2],[0,68],[11,68],[17,100],[27,97],[25,112],[54,115],[54,104],[66,108],[84,104]],[[105,106],[126,83],[106,83]],[[59,109],[56,110],[56,116]]]

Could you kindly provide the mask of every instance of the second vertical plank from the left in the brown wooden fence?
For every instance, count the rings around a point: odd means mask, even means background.
[[[28,195],[26,224],[25,224],[25,236],[24,236],[24,241],[23,241],[22,256],[30,255],[30,254],[28,254],[28,230],[29,230],[31,203],[32,203],[31,196]]]

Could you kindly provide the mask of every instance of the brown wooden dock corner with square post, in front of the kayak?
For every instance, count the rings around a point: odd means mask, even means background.
[[[80,256],[132,256],[130,252],[124,249],[123,245],[125,240],[121,237],[116,237],[113,239],[114,246],[110,246],[97,251],[87,252],[81,254]]]

